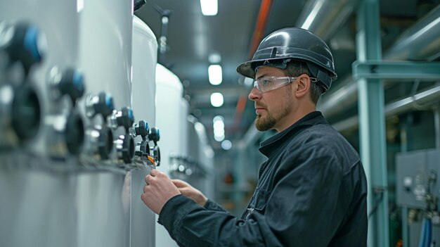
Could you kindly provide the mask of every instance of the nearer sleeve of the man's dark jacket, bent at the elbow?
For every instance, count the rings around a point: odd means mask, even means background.
[[[331,154],[311,156],[285,158],[280,170],[287,172],[276,176],[265,210],[247,220],[179,195],[164,205],[158,222],[180,246],[328,246],[346,210],[342,172]]]

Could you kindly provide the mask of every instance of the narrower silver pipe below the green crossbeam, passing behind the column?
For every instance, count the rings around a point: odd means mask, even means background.
[[[394,101],[393,103],[387,104],[385,106],[385,118],[389,118],[393,115],[399,115],[401,113],[406,113],[409,110],[420,109],[420,106],[426,106],[429,103],[434,103],[440,99],[440,85],[436,84],[434,87],[422,91],[414,96],[408,96],[405,99]],[[347,131],[356,129],[359,124],[358,115],[354,115],[351,118],[342,120],[332,125],[337,131]]]

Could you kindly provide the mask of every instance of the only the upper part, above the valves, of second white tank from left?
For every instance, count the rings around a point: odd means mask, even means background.
[[[115,108],[131,107],[133,0],[79,1],[79,65],[86,92],[106,91]]]

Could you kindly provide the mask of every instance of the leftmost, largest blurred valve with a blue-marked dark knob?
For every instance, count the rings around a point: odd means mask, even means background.
[[[40,101],[26,78],[32,65],[43,59],[44,36],[27,23],[0,23],[0,148],[11,148],[37,135]],[[20,62],[25,75],[12,76],[9,66]]]

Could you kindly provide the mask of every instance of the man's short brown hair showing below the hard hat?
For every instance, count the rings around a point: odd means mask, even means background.
[[[298,77],[299,75],[306,74],[309,75],[309,77],[313,78],[313,75],[311,74],[309,67],[303,61],[297,61],[297,60],[290,61],[289,63],[287,63],[287,68],[285,68],[285,73],[287,76],[290,77]],[[311,101],[315,103],[315,105],[316,103],[318,103],[321,94],[323,94],[323,87],[321,87],[321,85],[316,82],[311,82],[310,98]]]

